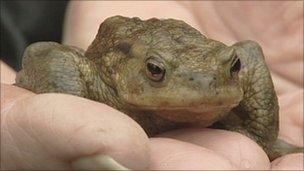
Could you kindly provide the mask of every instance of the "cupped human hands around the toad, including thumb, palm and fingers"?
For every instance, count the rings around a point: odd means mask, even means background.
[[[303,55],[299,46],[303,42],[297,37],[299,28],[292,26],[297,24],[287,22],[298,22],[297,16],[302,16],[298,9],[302,7],[297,2],[282,5],[279,2],[276,8],[270,8],[275,4],[254,8],[258,5],[255,2],[222,6],[216,3],[219,2],[74,1],[67,15],[65,42],[85,49],[99,24],[118,14],[144,19],[179,18],[210,38],[227,44],[242,39],[256,40],[266,49],[266,59],[280,94],[280,136],[303,146],[303,123],[300,122],[303,119],[303,82],[300,81],[303,75],[298,64]],[[274,15],[274,9],[281,12]],[[281,15],[282,11],[284,15]],[[268,17],[263,18],[265,15]],[[283,17],[285,22],[272,23],[277,21],[275,16],[277,20]],[[262,34],[267,28],[270,31]],[[284,73],[278,69],[280,64],[286,64]],[[6,163],[6,167],[18,163],[19,168],[27,169],[69,168],[71,161],[101,154],[111,156],[130,169],[143,169],[148,165],[149,169],[162,170],[303,169],[303,154],[286,155],[270,163],[254,141],[238,133],[183,129],[147,140],[136,123],[105,105],[69,95],[35,95],[11,85],[1,88],[1,128],[5,126],[1,135],[7,139],[1,149],[8,149],[1,150],[1,155],[6,156],[2,157],[1,164]],[[43,165],[45,161],[48,162]],[[82,161],[87,163],[86,158]],[[1,167],[4,168],[3,164]]]

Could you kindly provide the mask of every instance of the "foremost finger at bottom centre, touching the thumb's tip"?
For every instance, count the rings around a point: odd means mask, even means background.
[[[194,144],[152,138],[150,170],[232,170],[229,160]]]

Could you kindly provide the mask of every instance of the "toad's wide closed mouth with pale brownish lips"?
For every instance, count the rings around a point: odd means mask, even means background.
[[[177,93],[175,96],[170,95],[132,95],[125,94],[122,96],[123,101],[133,109],[142,110],[185,110],[189,112],[213,112],[222,108],[233,108],[237,106],[242,94],[198,94],[190,93],[190,95],[181,95]]]

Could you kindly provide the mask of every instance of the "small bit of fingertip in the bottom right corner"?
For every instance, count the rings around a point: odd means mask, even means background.
[[[271,162],[271,170],[304,170],[304,154],[288,154]]]

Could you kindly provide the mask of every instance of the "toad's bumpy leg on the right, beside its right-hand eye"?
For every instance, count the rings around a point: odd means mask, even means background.
[[[237,43],[234,47],[242,63],[239,79],[244,98],[221,122],[226,129],[255,140],[271,160],[284,154],[303,151],[303,148],[277,139],[278,100],[261,47],[252,41]],[[236,124],[236,120],[239,124]]]

